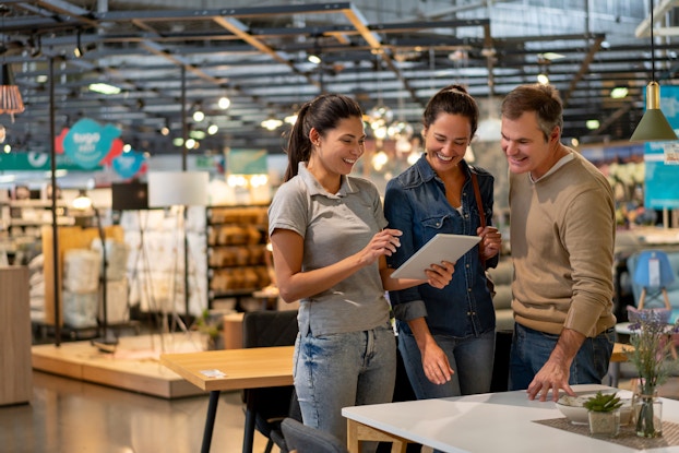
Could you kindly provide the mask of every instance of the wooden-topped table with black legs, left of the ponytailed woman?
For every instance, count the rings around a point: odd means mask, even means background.
[[[294,351],[295,346],[276,346],[160,355],[160,363],[210,392],[202,453],[210,452],[219,393],[293,385]],[[252,439],[246,437],[243,452],[251,451]]]

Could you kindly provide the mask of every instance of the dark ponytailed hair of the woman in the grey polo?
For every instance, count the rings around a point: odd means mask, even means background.
[[[312,128],[324,136],[341,120],[354,117],[360,119],[362,116],[358,103],[341,94],[322,94],[301,106],[288,139],[288,166],[283,180],[288,181],[297,175],[300,162],[309,162],[312,150],[309,133]]]

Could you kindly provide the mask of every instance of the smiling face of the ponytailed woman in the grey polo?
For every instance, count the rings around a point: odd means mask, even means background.
[[[309,133],[313,152],[308,169],[319,180],[337,178],[352,172],[354,165],[366,151],[364,123],[358,117],[344,118],[337,127],[321,135],[314,128]]]

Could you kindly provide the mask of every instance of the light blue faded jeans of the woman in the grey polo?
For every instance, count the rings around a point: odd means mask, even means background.
[[[396,342],[389,324],[334,335],[309,333],[296,343],[293,375],[305,425],[346,442],[343,407],[391,403]]]

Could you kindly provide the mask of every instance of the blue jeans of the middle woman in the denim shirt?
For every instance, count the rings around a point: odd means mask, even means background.
[[[422,357],[412,333],[398,332],[398,350],[403,356],[410,385],[418,400],[443,398],[490,392],[492,362],[496,348],[495,331],[478,337],[455,338],[433,335],[455,371],[444,384],[434,384],[425,374]]]

